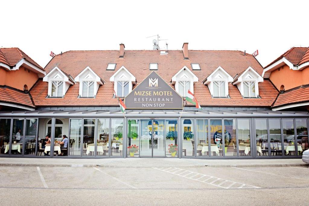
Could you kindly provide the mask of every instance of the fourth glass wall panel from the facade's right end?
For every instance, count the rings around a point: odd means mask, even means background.
[[[255,120],[256,156],[268,156],[267,120]]]

